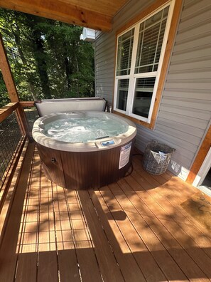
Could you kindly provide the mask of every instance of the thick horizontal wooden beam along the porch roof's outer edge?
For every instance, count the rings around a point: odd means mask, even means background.
[[[83,9],[80,4],[75,6],[62,0],[0,0],[0,6],[77,26],[86,26],[99,31],[110,31],[112,29],[112,16]]]

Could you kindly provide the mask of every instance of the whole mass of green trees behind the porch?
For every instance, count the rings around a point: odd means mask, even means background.
[[[21,100],[94,95],[94,50],[81,27],[0,9],[0,32]],[[7,100],[0,73],[0,106]]]

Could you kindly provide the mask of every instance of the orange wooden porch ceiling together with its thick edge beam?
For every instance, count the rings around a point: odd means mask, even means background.
[[[112,18],[129,0],[0,0],[0,7],[99,31],[112,29]]]

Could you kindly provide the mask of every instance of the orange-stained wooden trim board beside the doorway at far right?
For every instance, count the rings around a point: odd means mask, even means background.
[[[207,135],[205,136],[204,141],[202,142],[200,150],[198,151],[198,154],[195,157],[195,161],[193,162],[193,165],[190,168],[190,172],[186,179],[186,182],[188,182],[189,184],[193,184],[194,179],[197,176],[200,167],[202,166],[202,163],[204,162],[205,157],[207,156],[208,151],[210,150],[210,147],[211,147],[211,125],[209,130],[207,131]]]

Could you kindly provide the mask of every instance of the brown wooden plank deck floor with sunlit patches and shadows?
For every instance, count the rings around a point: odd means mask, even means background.
[[[147,174],[140,158],[119,182],[76,192],[45,178],[31,145],[1,244],[0,281],[210,281],[211,227],[181,206],[198,190],[170,172]]]

